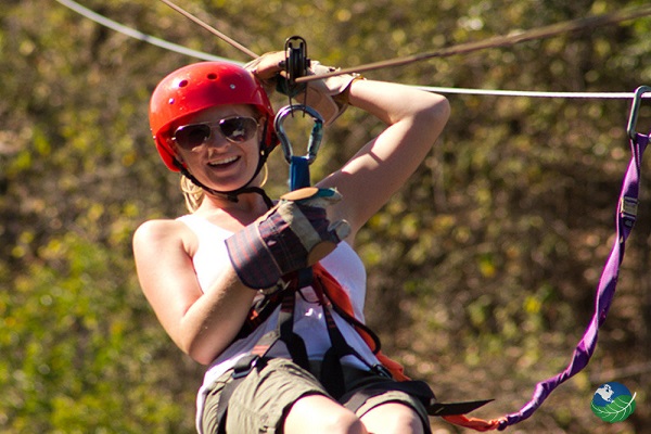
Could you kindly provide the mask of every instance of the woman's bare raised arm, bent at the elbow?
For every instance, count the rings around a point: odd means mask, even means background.
[[[354,81],[348,101],[387,124],[342,169],[318,183],[342,193],[333,217],[346,219],[355,233],[425,158],[449,117],[449,104],[438,94],[372,80]]]

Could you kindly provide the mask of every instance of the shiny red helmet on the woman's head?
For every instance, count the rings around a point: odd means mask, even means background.
[[[261,84],[248,71],[228,62],[201,62],[184,66],[165,77],[150,101],[150,127],[158,154],[170,170],[175,165],[169,145],[175,122],[216,105],[248,104],[266,123],[260,151],[266,155],[278,144],[273,108]]]

